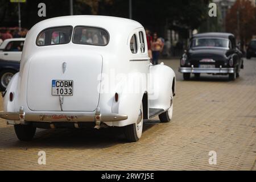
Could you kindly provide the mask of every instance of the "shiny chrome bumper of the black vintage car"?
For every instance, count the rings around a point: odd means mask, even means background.
[[[235,68],[194,68],[192,67],[180,67],[181,73],[235,73]]]

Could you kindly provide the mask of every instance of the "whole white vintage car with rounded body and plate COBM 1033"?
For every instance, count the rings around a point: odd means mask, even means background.
[[[171,120],[174,96],[175,73],[150,63],[140,23],[62,16],[31,28],[0,117],[20,140],[31,140],[36,128],[93,125],[120,127],[136,142],[143,119]]]

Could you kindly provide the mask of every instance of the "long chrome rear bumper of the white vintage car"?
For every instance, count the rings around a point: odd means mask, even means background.
[[[95,114],[25,113],[23,107],[20,107],[19,112],[1,112],[0,118],[18,121],[14,122],[15,124],[26,122],[96,122],[96,125],[100,125],[101,122],[123,121],[128,116],[125,114],[101,114],[99,107]]]

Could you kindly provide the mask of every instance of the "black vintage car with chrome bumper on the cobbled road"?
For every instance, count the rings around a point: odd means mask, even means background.
[[[229,75],[229,80],[235,80],[241,68],[242,52],[236,47],[234,35],[212,32],[192,36],[189,48],[180,59],[179,72],[184,80],[189,80],[191,73],[196,78],[208,73]]]

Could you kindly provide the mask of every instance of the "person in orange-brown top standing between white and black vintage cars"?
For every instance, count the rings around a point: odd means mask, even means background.
[[[153,57],[153,64],[158,64],[158,59],[160,55],[160,51],[163,50],[163,43],[158,38],[158,34],[154,33],[153,40],[151,42],[151,49],[152,49],[152,57]]]

